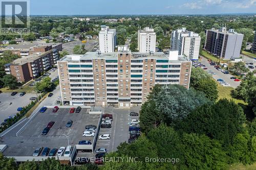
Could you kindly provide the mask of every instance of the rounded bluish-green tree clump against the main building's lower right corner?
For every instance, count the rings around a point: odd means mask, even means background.
[[[140,110],[140,126],[147,132],[160,123],[172,124],[206,103],[210,103],[202,92],[187,90],[180,85],[160,87],[156,85]]]

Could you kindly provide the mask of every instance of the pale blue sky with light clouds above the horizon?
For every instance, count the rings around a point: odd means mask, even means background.
[[[256,0],[30,0],[31,15],[256,13]]]

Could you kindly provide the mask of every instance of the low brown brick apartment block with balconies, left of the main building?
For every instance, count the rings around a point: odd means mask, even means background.
[[[5,64],[5,72],[16,77],[18,82],[26,83],[38,77],[41,72],[51,68],[58,59],[56,49],[44,53],[34,53]]]

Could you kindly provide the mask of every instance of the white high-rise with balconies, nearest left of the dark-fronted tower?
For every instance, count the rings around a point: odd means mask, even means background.
[[[186,31],[186,28],[172,31],[170,50],[179,51],[179,55],[185,55],[190,60],[198,60],[201,37],[194,32]]]

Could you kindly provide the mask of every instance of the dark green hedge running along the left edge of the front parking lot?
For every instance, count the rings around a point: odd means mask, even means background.
[[[39,95],[38,101],[40,101],[45,95],[46,93],[42,93],[41,95]],[[19,113],[17,113],[15,116],[9,116],[8,118],[6,118],[5,121],[1,124],[0,133],[4,132],[6,129],[17,123],[18,120],[22,119],[30,111],[30,109],[38,103],[38,101],[37,99],[35,101],[32,101],[30,104],[23,107],[22,110],[20,110]]]

